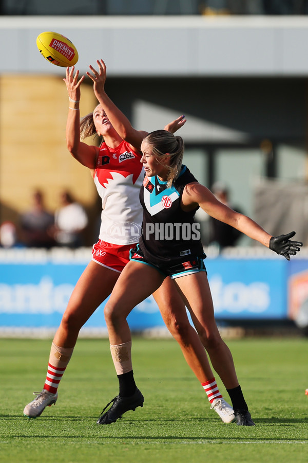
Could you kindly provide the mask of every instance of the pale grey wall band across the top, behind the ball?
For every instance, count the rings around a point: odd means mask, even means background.
[[[0,16],[1,72],[61,74],[36,37],[54,30],[82,72],[104,58],[113,76],[306,76],[308,16]]]

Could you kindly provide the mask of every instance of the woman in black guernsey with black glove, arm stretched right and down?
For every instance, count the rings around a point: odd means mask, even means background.
[[[279,237],[269,235],[252,219],[228,208],[206,187],[200,185],[182,165],[184,143],[181,137],[164,130],[151,132],[143,139],[141,151],[146,175],[140,193],[144,209],[143,234],[138,246],[131,250],[130,261],[105,306],[115,369],[118,371],[120,366],[126,371],[121,378],[118,375],[120,390],[122,383],[125,387],[131,387],[134,393],[130,397],[121,398],[121,394],[115,397],[108,411],[103,413],[105,407],[102,412],[99,424],[116,421],[123,413],[142,405],[140,391],[133,378],[131,356],[127,355],[128,350],[125,348],[131,342],[126,317],[135,306],[155,292],[166,277],[170,277],[169,281],[174,280],[171,283],[175,284],[189,310],[208,353],[215,352],[215,355],[211,355],[215,370],[224,365],[224,368],[235,374],[232,354],[221,339],[214,317],[203,261],[205,255],[194,222],[199,206],[210,216],[237,228],[287,259],[295,255],[299,251],[298,246],[302,245],[289,240],[295,232]],[[213,399],[218,389],[216,382],[207,381],[202,385],[209,400]],[[237,424],[253,426],[255,423],[240,385],[227,388],[227,391]]]

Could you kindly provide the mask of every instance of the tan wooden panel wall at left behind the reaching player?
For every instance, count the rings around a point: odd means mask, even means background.
[[[96,104],[92,85],[83,84],[81,115]],[[44,191],[51,211],[59,205],[63,188],[86,208],[97,201],[90,171],[67,151],[67,112],[62,77],[0,76],[0,223],[15,222],[18,213],[29,208],[35,188]]]

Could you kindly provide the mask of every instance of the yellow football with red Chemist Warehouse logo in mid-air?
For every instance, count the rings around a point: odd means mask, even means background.
[[[73,66],[78,61],[78,51],[74,44],[57,32],[42,32],[36,39],[41,55],[56,66]]]

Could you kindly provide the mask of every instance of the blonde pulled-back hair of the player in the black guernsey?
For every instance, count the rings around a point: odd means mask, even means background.
[[[155,130],[143,139],[143,143],[150,145],[152,153],[157,157],[158,162],[160,162],[160,158],[169,157],[170,163],[166,165],[169,170],[167,175],[167,187],[169,188],[181,172],[184,154],[183,138],[166,130]]]

